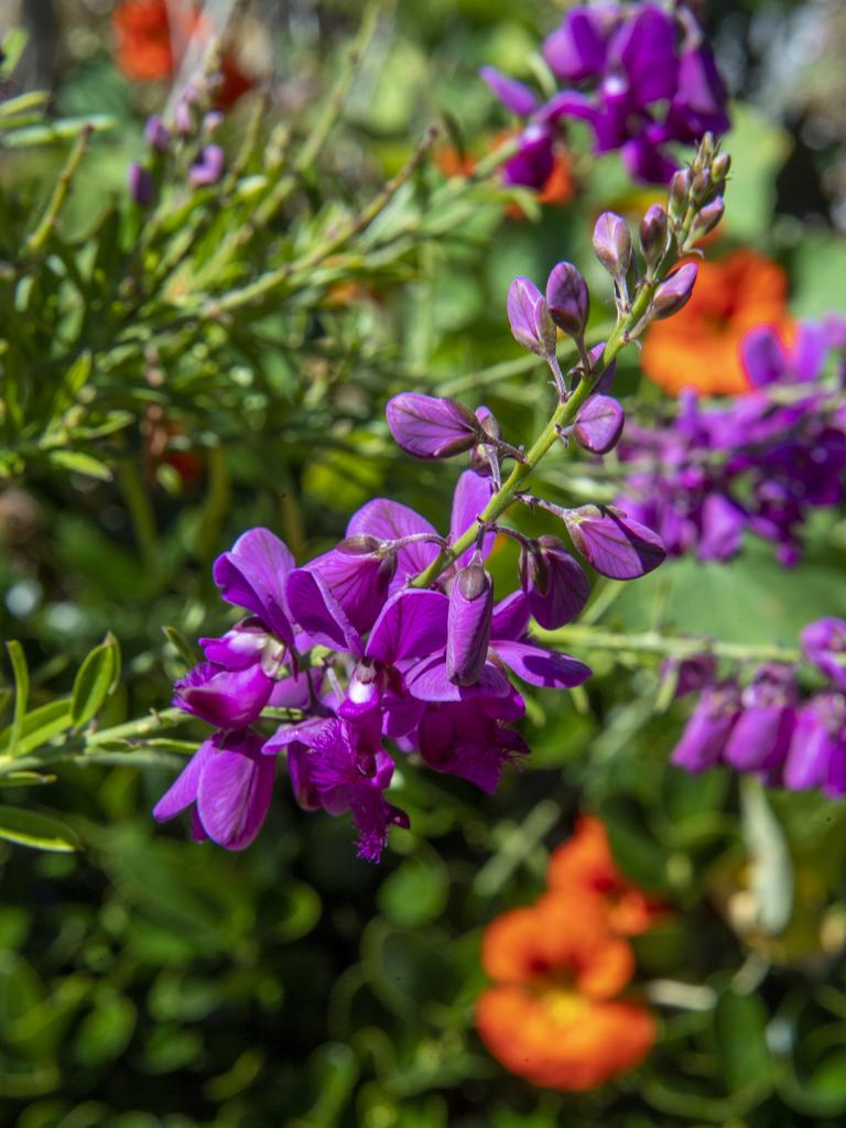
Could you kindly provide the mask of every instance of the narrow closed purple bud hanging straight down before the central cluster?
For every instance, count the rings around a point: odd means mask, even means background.
[[[478,681],[487,659],[493,616],[493,580],[485,571],[482,554],[452,581],[447,616],[447,676],[457,686]]]

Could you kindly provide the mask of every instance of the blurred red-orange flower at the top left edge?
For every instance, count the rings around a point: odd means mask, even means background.
[[[192,35],[209,34],[210,25],[193,6],[167,0],[125,0],[113,15],[117,34],[117,65],[136,82],[171,78]],[[220,64],[223,83],[221,106],[231,106],[253,86],[231,55]]]

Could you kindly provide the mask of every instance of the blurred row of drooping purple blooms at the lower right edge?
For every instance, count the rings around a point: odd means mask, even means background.
[[[810,697],[800,695],[792,666],[764,664],[741,688],[734,678],[717,680],[713,661],[696,661],[696,684],[680,688],[700,695],[672,763],[693,773],[728,764],[768,786],[846,795],[846,664],[838,661],[846,652],[846,623],[810,624],[802,649],[826,678]]]

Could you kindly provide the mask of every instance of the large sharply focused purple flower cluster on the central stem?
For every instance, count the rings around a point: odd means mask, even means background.
[[[492,792],[503,765],[528,752],[512,726],[526,706],[509,676],[553,689],[590,677],[583,662],[529,633],[531,617],[555,629],[579,615],[585,573],[557,537],[531,539],[484,519],[500,458],[522,457],[502,441],[490,411],[403,393],[387,417],[418,458],[469,453],[449,536],[376,499],[353,514],[335,548],[302,567],[266,529],[245,532],[220,556],[214,581],[246,617],[222,637],[201,640],[205,661],[176,684],[175,704],[215,732],[156,805],[157,819],[191,808],[196,838],[247,846],[284,752],[297,801],[351,812],[360,856],[377,861],[388,828],[408,825],[386,795],[396,755],[386,741]],[[548,508],[600,572],[632,578],[663,559],[658,538],[616,510]],[[468,529],[476,530],[468,546],[452,548]],[[486,566],[497,531],[521,546],[519,589],[499,600]],[[418,585],[426,571],[431,582]],[[266,711],[277,710],[296,712],[264,732]]]

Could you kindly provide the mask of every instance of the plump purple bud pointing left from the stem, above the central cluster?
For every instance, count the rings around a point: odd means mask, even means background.
[[[400,391],[385,414],[398,446],[415,458],[450,458],[482,439],[478,420],[457,399]]]

